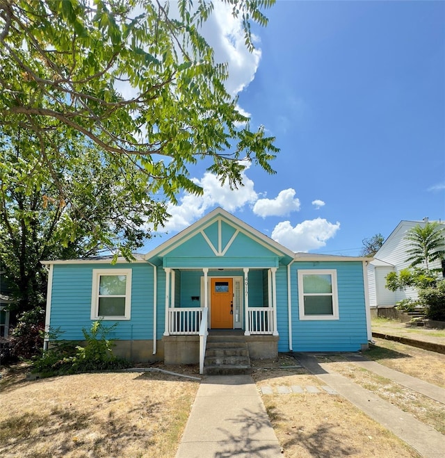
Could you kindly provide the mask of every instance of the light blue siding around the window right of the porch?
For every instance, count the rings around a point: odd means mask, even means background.
[[[339,296],[339,320],[299,320],[298,269],[335,269]],[[296,352],[357,351],[368,341],[363,266],[357,262],[293,263],[291,266],[292,339]],[[280,316],[280,323],[284,316]],[[282,325],[279,350],[285,351]]]

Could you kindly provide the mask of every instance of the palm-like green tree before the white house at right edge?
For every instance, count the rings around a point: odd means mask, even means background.
[[[405,240],[409,247],[406,261],[412,261],[410,267],[424,263],[429,273],[432,261],[445,258],[445,228],[436,221],[412,227]]]

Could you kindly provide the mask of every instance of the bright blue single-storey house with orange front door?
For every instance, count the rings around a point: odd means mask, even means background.
[[[117,322],[121,356],[201,368],[218,333],[241,338],[250,358],[358,351],[371,339],[368,261],[291,252],[216,208],[131,263],[44,261],[46,324],[80,341],[93,321]]]

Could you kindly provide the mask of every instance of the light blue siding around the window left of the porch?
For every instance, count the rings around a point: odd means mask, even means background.
[[[121,340],[151,339],[153,336],[153,270],[148,264],[56,264],[53,271],[51,329],[60,328],[60,338],[83,339],[90,329],[93,269],[131,268],[131,320],[104,320],[118,326],[110,335]]]

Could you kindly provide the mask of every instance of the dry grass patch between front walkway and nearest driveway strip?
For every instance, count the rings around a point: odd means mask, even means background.
[[[284,358],[284,361],[283,361]],[[323,386],[305,369],[286,369],[295,360],[282,357],[270,361],[253,377],[257,386]],[[275,366],[275,368],[274,368]],[[419,457],[403,441],[357,409],[340,395],[277,394],[261,395],[285,457],[360,458]]]

